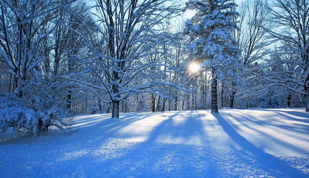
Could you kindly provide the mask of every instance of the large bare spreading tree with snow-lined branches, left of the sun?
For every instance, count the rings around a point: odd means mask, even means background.
[[[120,101],[134,93],[168,98],[170,92],[162,86],[181,88],[168,80],[176,68],[162,58],[171,56],[167,46],[176,45],[163,22],[179,15],[179,7],[168,0],[96,1],[93,15],[101,32],[93,34],[98,41],[89,40],[92,52],[78,57],[83,72],[71,76],[105,103],[112,103],[112,118],[119,118]],[[149,57],[156,54],[161,57]]]

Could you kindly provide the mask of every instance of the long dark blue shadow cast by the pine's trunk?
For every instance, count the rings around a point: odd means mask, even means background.
[[[284,175],[295,175],[293,177],[309,177],[308,175],[298,171],[297,169],[287,165],[283,160],[277,157],[265,153],[262,149],[257,148],[252,143],[250,143],[246,138],[241,136],[219,113],[211,113],[221,125],[222,129],[226,132],[228,136],[231,137],[243,150],[251,152],[259,160],[260,164],[263,163],[275,163],[276,167],[269,167],[267,171],[269,172],[282,172]]]

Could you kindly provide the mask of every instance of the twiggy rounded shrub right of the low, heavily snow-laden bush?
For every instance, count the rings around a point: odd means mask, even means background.
[[[50,126],[55,126],[65,133],[73,132],[73,115],[66,109],[66,102],[61,99],[61,83],[49,76],[36,76],[28,80],[23,91],[23,98],[37,112],[38,124],[34,134],[45,134]],[[46,80],[49,79],[49,80]]]

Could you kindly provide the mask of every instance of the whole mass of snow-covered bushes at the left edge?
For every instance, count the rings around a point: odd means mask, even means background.
[[[36,76],[23,83],[23,98],[13,93],[0,93],[0,132],[17,126],[29,136],[47,134],[51,126],[65,133],[74,132],[73,115],[65,109],[59,82]]]

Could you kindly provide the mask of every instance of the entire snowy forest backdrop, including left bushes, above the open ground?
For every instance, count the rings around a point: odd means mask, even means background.
[[[307,0],[0,0],[0,132],[74,115],[305,107]],[[185,12],[194,16],[186,19]]]

